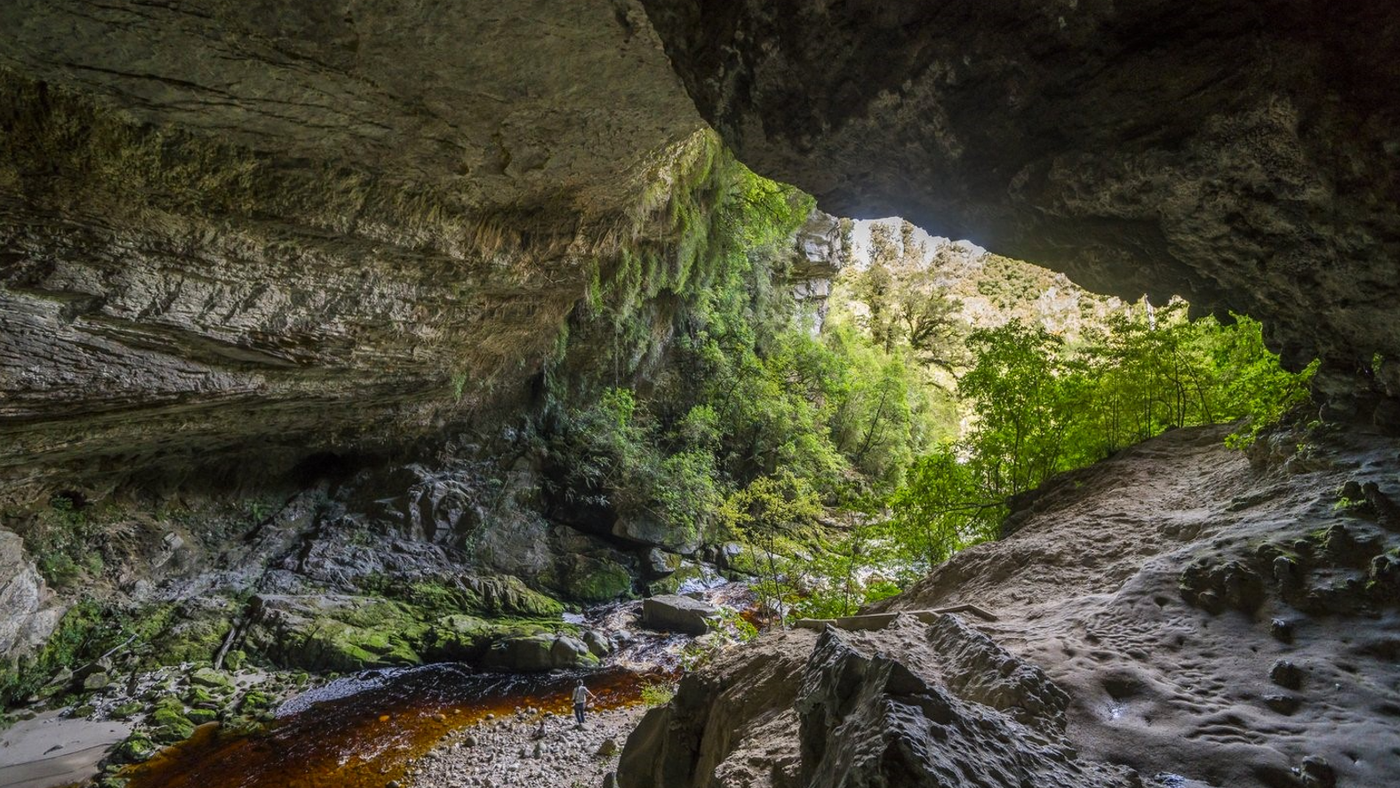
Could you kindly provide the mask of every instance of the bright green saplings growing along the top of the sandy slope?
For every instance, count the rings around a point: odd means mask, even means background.
[[[970,428],[889,500],[889,537],[925,567],[995,537],[1011,495],[1163,430],[1238,420],[1229,442],[1246,444],[1308,402],[1312,375],[1282,370],[1256,321],[1190,321],[1182,301],[1144,301],[1079,343],[1016,321],[969,342]]]

